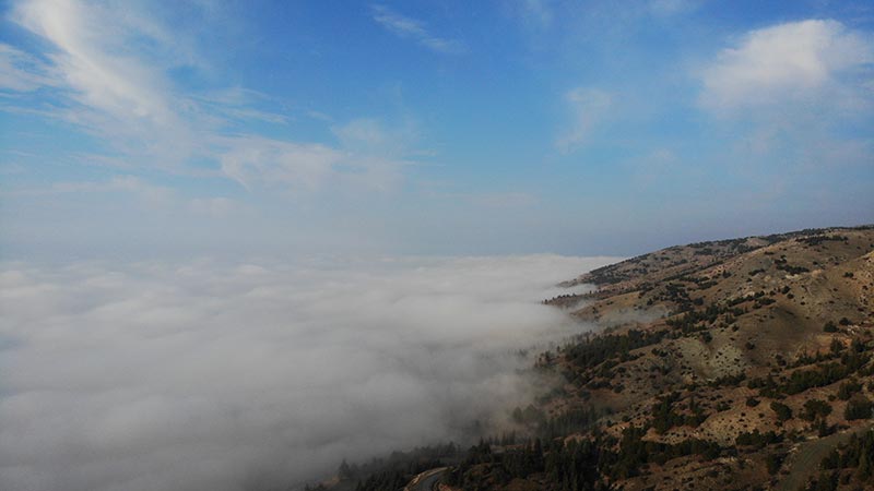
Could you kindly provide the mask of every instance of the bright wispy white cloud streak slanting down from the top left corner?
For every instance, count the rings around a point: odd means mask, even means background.
[[[51,45],[43,53],[58,81],[51,116],[151,167],[178,167],[202,151],[202,117],[166,76],[187,57],[145,14],[133,7],[120,12],[72,0],[29,0],[17,3],[11,19]]]

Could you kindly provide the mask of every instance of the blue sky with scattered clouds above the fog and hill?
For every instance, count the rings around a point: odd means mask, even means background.
[[[615,255],[874,221],[870,2],[0,9],[7,259]]]

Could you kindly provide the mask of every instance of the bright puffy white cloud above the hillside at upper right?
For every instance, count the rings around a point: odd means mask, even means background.
[[[753,31],[701,72],[700,103],[731,111],[791,101],[847,104],[874,40],[837,21],[810,20]],[[854,73],[857,71],[857,73]]]

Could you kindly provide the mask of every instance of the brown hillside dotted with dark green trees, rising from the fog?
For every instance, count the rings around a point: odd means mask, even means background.
[[[546,301],[599,326],[540,356],[564,382],[442,489],[874,488],[874,227],[672,247],[580,284]]]

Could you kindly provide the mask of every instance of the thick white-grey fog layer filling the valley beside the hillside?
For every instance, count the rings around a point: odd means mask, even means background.
[[[7,263],[0,489],[270,489],[463,438],[606,262]]]

